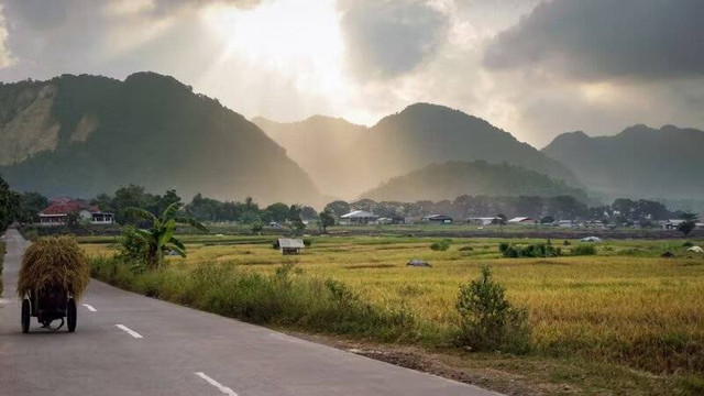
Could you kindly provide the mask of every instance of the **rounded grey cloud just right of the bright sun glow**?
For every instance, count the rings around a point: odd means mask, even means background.
[[[444,38],[447,18],[426,1],[353,0],[340,9],[350,67],[361,80],[411,72]]]

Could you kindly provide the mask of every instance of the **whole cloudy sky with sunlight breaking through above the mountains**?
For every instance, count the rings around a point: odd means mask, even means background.
[[[152,70],[248,118],[371,125],[415,102],[537,147],[704,129],[702,0],[4,0],[0,80]]]

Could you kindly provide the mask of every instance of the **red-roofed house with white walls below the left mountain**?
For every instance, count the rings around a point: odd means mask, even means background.
[[[40,212],[40,226],[63,226],[69,213],[77,213],[79,221],[91,224],[112,224],[114,215],[102,212],[82,199],[53,198],[50,206]]]

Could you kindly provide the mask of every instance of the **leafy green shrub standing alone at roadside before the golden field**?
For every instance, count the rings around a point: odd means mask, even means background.
[[[528,312],[512,306],[488,266],[482,267],[479,278],[460,287],[455,308],[461,318],[460,344],[475,351],[528,352]]]

